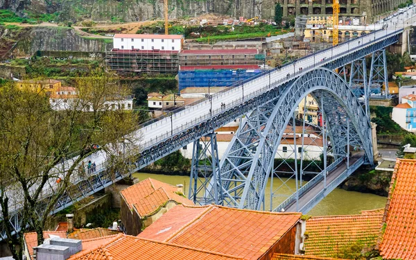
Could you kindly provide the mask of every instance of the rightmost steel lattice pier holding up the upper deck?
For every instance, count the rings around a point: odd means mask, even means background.
[[[368,86],[371,87],[372,84],[384,85],[385,96],[388,96],[387,59],[385,57],[385,49],[372,53]]]

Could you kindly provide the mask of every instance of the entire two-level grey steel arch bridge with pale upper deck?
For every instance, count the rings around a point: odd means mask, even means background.
[[[406,21],[410,19],[408,17]],[[268,177],[271,182],[273,178],[281,180],[281,171],[272,164],[272,155],[281,152],[279,147],[276,148],[279,143],[290,139],[290,134],[284,135],[286,132],[282,134],[281,130],[293,128],[291,135],[295,143],[295,128],[300,126],[300,122],[293,115],[293,110],[300,98],[310,93],[317,101],[324,119],[320,129],[316,130],[320,132],[316,135],[323,143],[323,165],[318,167],[320,171],[313,173],[315,177],[311,181],[302,185],[303,175],[309,174],[308,165],[302,165],[304,157],[307,157],[303,149],[304,136],[309,135],[303,120],[300,138],[302,150],[298,151],[296,148],[299,144],[294,144],[291,151],[295,155],[295,162],[300,161],[300,166],[296,162],[285,173],[289,173],[288,177],[293,177],[300,185],[296,184],[295,191],[286,193],[270,191],[270,210],[308,211],[358,166],[365,161],[372,162],[371,133],[367,120],[369,86],[386,82],[383,49],[395,44],[403,31],[401,26],[393,28],[392,23],[385,24],[382,30],[306,55],[297,62],[241,81],[227,89],[227,92],[211,95],[196,105],[142,125],[137,134],[144,135],[145,140],[139,142],[139,154],[130,157],[133,159],[126,162],[123,169],[108,164],[105,155],[97,155],[97,159],[101,160],[97,164],[97,171],[85,179],[71,177],[71,187],[58,200],[52,214],[187,144],[193,144],[194,147],[189,190],[191,199],[200,204],[216,202],[230,207],[265,209]],[[365,67],[365,57],[368,55],[372,55],[370,79],[367,78]],[[351,64],[352,69],[349,78],[345,73],[347,64]],[[303,69],[298,71],[300,67]],[[332,72],[337,68],[343,72],[343,80]],[[361,85],[365,92],[364,112],[351,93],[356,85]],[[225,108],[220,107],[223,101],[227,103]],[[239,118],[243,120],[238,135],[227,149],[226,159],[220,162],[215,130]],[[361,146],[365,156],[356,153],[349,158],[350,146]],[[347,162],[343,163],[343,159]],[[65,173],[65,170],[62,172]],[[53,180],[46,190],[42,190],[44,200],[50,198],[54,185]],[[280,195],[285,195],[286,200],[274,204],[272,198]],[[24,200],[19,194],[10,194],[10,198],[12,214],[8,222],[18,231],[22,225],[26,225],[21,223],[19,210]],[[42,214],[42,208],[38,212]],[[5,235],[4,230],[1,230],[2,239]]]

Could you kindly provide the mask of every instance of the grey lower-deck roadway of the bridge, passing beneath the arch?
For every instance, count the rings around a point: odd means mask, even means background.
[[[356,155],[353,155],[351,158],[349,158],[349,165],[354,164],[358,159],[363,157],[363,153],[358,153]],[[341,173],[343,173],[347,169],[347,163],[341,162],[340,165],[338,165],[333,171],[329,172],[327,175],[327,185],[333,182],[333,180],[336,179]],[[306,193],[303,194],[299,198],[298,202],[298,209],[302,209],[309,201],[311,201],[320,191],[324,189],[324,181],[321,180],[318,184],[316,184],[314,187],[309,189],[309,191],[306,191]],[[296,209],[296,202],[293,202],[289,207],[286,207],[284,209],[286,212],[295,212]]]

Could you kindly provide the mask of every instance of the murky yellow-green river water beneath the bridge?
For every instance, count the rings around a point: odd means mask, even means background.
[[[184,184],[185,195],[188,195],[189,189],[189,176],[180,175],[162,175],[151,173],[134,173],[134,177],[139,180],[144,180],[151,177],[161,182],[168,184]],[[286,179],[287,180],[287,179]],[[284,180],[284,181],[286,181]],[[285,189],[286,194],[290,192],[290,189],[295,189],[295,180],[288,180],[286,182],[288,188]],[[281,182],[275,178],[273,180],[273,189],[281,186]],[[289,189],[290,188],[290,189]],[[273,199],[273,207],[279,205],[280,202],[287,198],[284,196],[275,196]],[[376,196],[370,193],[360,193],[356,191],[345,191],[343,189],[333,190],[324,200],[316,205],[308,215],[312,216],[326,216],[326,215],[347,215],[347,214],[359,214],[362,210],[379,209],[385,207],[387,198],[382,196]],[[270,209],[270,182],[266,188],[266,210]]]

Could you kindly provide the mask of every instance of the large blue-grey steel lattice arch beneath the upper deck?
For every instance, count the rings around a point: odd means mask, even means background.
[[[338,107],[343,107],[352,119],[365,153],[372,162],[370,121],[351,89],[338,74],[329,69],[317,69],[282,89],[284,91],[281,92],[273,111],[261,113],[262,106],[259,106],[259,109],[247,116],[243,128],[236,132],[229,144],[227,153],[220,162],[223,205],[260,209],[273,158],[284,129],[297,104],[311,92],[328,92],[338,102]],[[270,107],[268,103],[265,105]],[[264,128],[254,123],[259,118],[268,119]],[[250,135],[247,135],[248,132]]]

